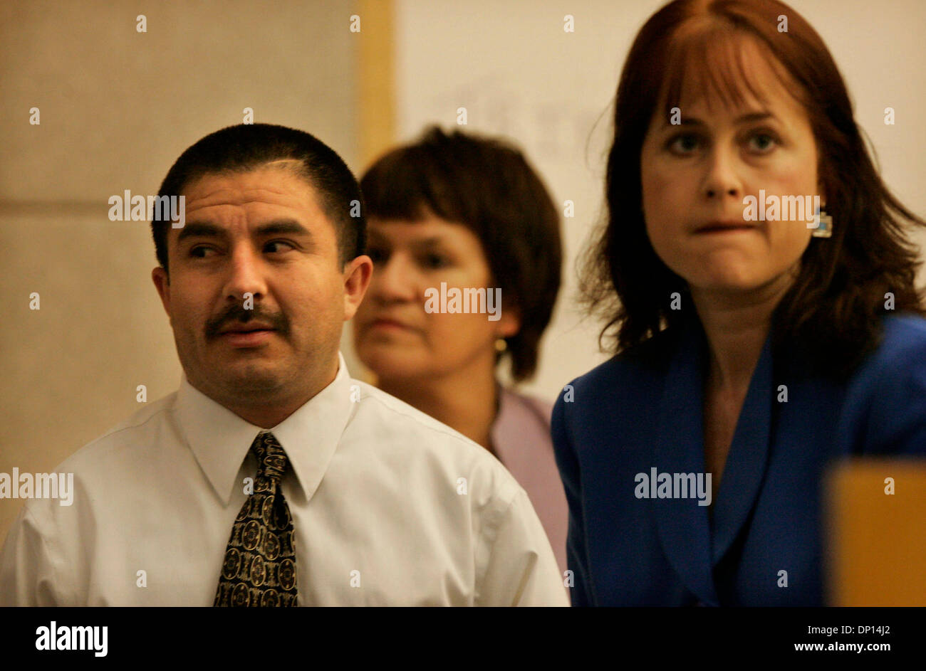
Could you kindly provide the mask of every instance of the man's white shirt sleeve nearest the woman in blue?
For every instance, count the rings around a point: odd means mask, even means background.
[[[492,525],[478,606],[568,606],[557,559],[527,492],[515,494]]]

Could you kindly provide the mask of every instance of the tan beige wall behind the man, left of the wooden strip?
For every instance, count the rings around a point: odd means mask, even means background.
[[[147,224],[109,221],[110,195],[157,193],[244,107],[357,168],[356,5],[0,4],[0,472],[50,471],[137,410],[138,385],[154,401],[180,380]],[[0,539],[21,503],[0,499]]]

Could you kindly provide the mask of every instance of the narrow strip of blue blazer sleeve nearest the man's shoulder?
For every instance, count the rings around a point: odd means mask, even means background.
[[[571,571],[572,586],[569,590],[572,605],[593,605],[589,589],[588,562],[585,553],[585,525],[582,513],[582,478],[579,460],[572,449],[569,432],[566,428],[566,407],[562,394],[553,406],[550,423],[553,436],[553,450],[557,457],[559,477],[563,480],[566,501],[569,503],[569,530],[566,534],[566,564]]]

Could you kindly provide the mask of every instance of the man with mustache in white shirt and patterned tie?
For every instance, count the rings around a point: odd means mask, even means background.
[[[299,130],[187,149],[152,221],[181,388],[59,466],[0,556],[0,605],[566,605],[527,494],[491,454],[357,380],[357,181]]]

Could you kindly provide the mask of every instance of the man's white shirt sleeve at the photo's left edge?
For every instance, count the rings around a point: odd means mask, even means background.
[[[54,606],[55,566],[48,543],[27,502],[0,553],[0,606]]]

